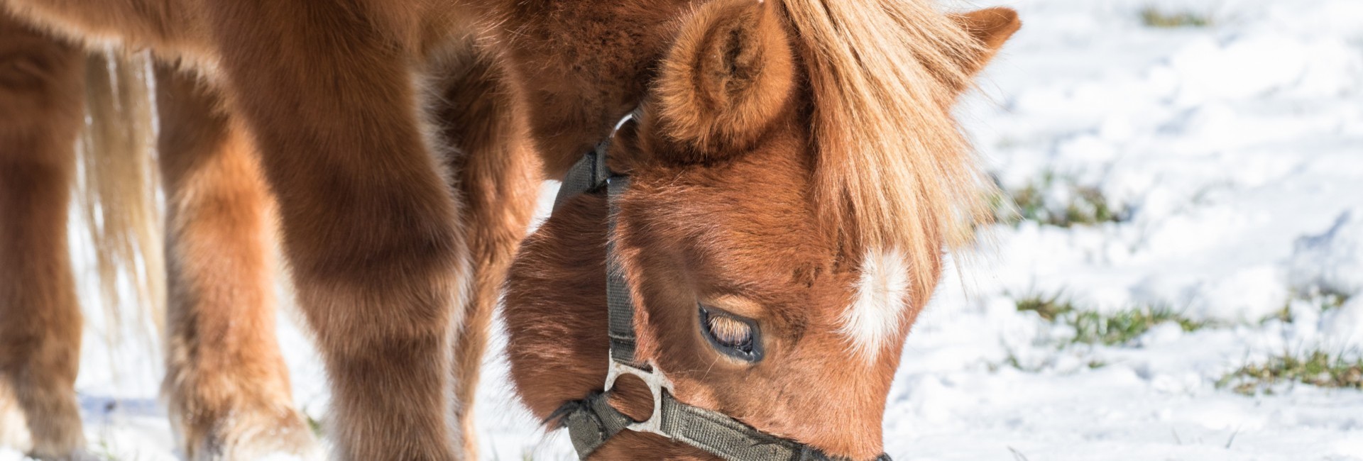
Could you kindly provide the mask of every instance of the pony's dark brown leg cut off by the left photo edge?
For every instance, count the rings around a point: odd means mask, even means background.
[[[83,63],[79,49],[0,12],[0,446],[38,458],[85,446],[67,253]]]

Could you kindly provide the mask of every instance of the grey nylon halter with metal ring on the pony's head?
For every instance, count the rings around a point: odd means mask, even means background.
[[[613,135],[612,135],[613,137]],[[555,197],[557,209],[568,197],[605,189],[609,207],[607,227],[607,310],[609,313],[611,364],[604,392],[593,392],[582,400],[559,407],[549,416],[559,427],[567,427],[578,457],[586,460],[596,449],[623,430],[657,434],[671,441],[687,443],[728,461],[833,461],[815,447],[762,432],[743,422],[710,409],[688,405],[673,397],[672,382],[652,360],[635,356],[634,299],[628,280],[616,253],[616,216],[620,196],[630,186],[627,175],[615,174],[607,166],[607,151],[612,137],[582,156],[568,170]],[[611,389],[622,375],[634,375],[647,385],[653,394],[653,413],[647,420],[635,422],[609,404]],[[890,461],[880,454],[878,461]]]

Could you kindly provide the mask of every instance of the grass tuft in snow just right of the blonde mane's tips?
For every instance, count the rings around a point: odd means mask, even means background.
[[[1051,200],[1048,190],[1060,189],[1065,201]],[[1047,171],[1037,181],[1021,189],[1005,190],[994,197],[995,219],[1017,224],[1032,220],[1056,227],[1119,223],[1129,218],[1127,209],[1118,209],[1107,196],[1093,186],[1079,185],[1073,178]]]

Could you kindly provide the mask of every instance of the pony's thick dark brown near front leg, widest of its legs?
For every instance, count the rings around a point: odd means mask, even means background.
[[[418,58],[403,42],[416,34],[383,15],[403,5],[206,4],[331,377],[337,456],[454,460],[453,306],[468,262],[454,193],[423,136]]]

